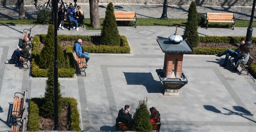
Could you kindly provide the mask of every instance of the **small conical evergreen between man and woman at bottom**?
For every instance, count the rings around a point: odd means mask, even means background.
[[[133,122],[130,122],[129,130],[132,131],[152,131],[153,125],[150,121],[150,113],[147,109],[147,98],[139,100],[138,108],[133,113]]]

